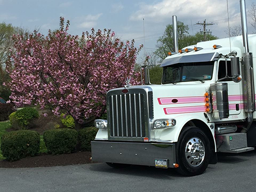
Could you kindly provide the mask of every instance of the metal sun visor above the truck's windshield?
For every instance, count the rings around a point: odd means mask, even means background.
[[[177,63],[191,63],[191,62],[207,62],[213,61],[214,58],[218,57],[219,53],[204,53],[204,54],[193,54],[193,55],[183,55],[180,57],[173,57],[170,59],[165,59],[161,63],[161,67],[177,64]]]

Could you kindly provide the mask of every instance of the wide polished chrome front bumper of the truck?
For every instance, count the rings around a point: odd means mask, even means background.
[[[155,159],[167,159],[168,167],[176,163],[175,143],[92,141],[94,162],[155,166]]]

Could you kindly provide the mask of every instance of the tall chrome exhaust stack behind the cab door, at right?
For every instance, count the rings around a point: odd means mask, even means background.
[[[243,53],[243,90],[246,98],[244,102],[246,103],[245,111],[247,113],[247,125],[245,127],[245,132],[247,132],[253,121],[253,112],[255,111],[255,95],[254,95],[254,78],[253,78],[253,61],[252,53],[249,52],[249,41],[248,41],[248,30],[247,30],[247,19],[246,19],[246,6],[245,0],[240,0],[241,8],[241,22],[243,31],[243,43],[244,50]]]

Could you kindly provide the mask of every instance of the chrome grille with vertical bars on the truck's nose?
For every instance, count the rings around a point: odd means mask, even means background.
[[[141,93],[115,94],[108,99],[110,136],[146,137],[145,95]]]

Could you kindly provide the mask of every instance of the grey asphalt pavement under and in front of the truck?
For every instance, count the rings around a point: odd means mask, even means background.
[[[256,191],[256,150],[218,158],[218,164],[195,177],[148,166],[117,170],[105,163],[0,169],[0,192]]]

